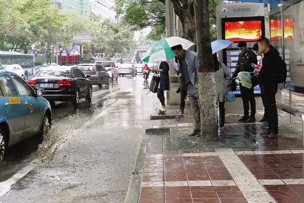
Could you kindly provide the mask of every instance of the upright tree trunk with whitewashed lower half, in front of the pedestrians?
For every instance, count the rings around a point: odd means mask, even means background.
[[[209,30],[209,1],[195,0],[196,39],[199,57],[199,104],[202,136],[217,134],[216,90]]]

